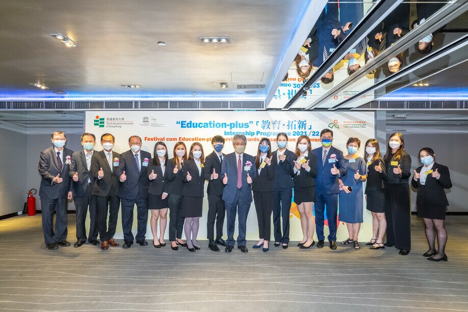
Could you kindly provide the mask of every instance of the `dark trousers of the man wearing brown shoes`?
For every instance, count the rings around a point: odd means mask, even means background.
[[[111,195],[112,193],[113,191],[111,190],[111,193],[108,196],[94,196],[97,210],[97,230],[102,242],[109,241],[113,238],[117,227],[120,197]]]

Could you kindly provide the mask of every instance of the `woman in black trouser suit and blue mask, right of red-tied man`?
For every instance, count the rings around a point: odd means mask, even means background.
[[[275,177],[275,165],[271,161],[271,142],[268,138],[262,138],[258,143],[255,168],[257,168],[257,177],[253,181],[252,191],[260,240],[252,248],[263,247],[263,251],[267,252],[270,249],[268,242],[271,235],[271,213],[273,211],[272,180]]]

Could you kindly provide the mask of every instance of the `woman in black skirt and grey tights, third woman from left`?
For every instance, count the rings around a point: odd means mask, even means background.
[[[197,235],[203,211],[204,161],[203,147],[198,142],[193,143],[190,146],[189,159],[182,173],[182,181],[184,182],[182,216],[185,218],[184,231],[187,238],[187,248],[192,252],[195,249],[200,249],[197,244]],[[213,179],[218,178],[218,173],[212,175]]]

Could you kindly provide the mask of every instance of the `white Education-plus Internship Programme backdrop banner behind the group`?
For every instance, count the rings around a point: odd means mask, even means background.
[[[294,151],[296,140],[299,136],[309,136],[312,148],[320,147],[320,131],[324,128],[333,131],[333,146],[346,151],[346,141],[350,137],[357,137],[361,141],[358,155],[363,157],[365,142],[375,137],[375,116],[373,112],[267,112],[267,111],[87,111],[85,131],[96,135],[96,150],[101,150],[100,136],[111,133],[115,136],[116,152],[124,152],[129,149],[128,138],[137,135],[142,138],[142,149],[153,154],[154,144],[163,141],[168,147],[169,158],[172,158],[172,150],[176,142],[183,141],[187,148],[193,142],[200,142],[205,155],[213,151],[211,138],[221,135],[225,138],[224,153],[233,152],[232,136],[243,134],[247,137],[245,152],[256,155],[258,142],[267,137],[272,141],[272,149],[276,150],[276,134],[285,132],[288,134],[288,149]],[[207,183],[205,183],[206,187]],[[206,194],[206,192],[205,192]],[[293,198],[294,199],[294,198]],[[364,201],[366,204],[366,201]],[[255,205],[252,202],[247,219],[247,239],[258,239],[258,225],[255,214]],[[208,203],[206,196],[203,202],[203,217],[200,222],[198,239],[206,239],[206,214]],[[136,231],[136,209],[134,210],[134,232]],[[119,221],[115,238],[122,239],[121,219]],[[89,218],[88,218],[89,219]],[[302,231],[297,206],[293,202],[290,213],[292,241],[302,240]],[[325,215],[325,224],[327,224]],[[89,221],[87,224],[89,228]],[[224,227],[224,236],[226,236]],[[273,231],[273,226],[272,226]],[[135,234],[135,233],[134,233]],[[328,235],[328,227],[325,226],[325,237]],[[237,229],[236,235],[237,236]],[[364,223],[361,225],[359,238],[361,241],[369,240],[372,236],[372,216],[364,209]],[[148,226],[146,237],[152,238]],[[165,239],[168,237],[166,230]],[[348,238],[346,226],[339,223],[337,240]],[[316,238],[317,240],[317,238]]]

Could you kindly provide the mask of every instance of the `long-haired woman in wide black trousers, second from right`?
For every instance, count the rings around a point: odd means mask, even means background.
[[[383,158],[386,169],[385,219],[387,221],[385,246],[400,249],[401,255],[411,250],[411,209],[409,202],[409,177],[411,157],[405,152],[401,133],[390,136],[387,153]]]

